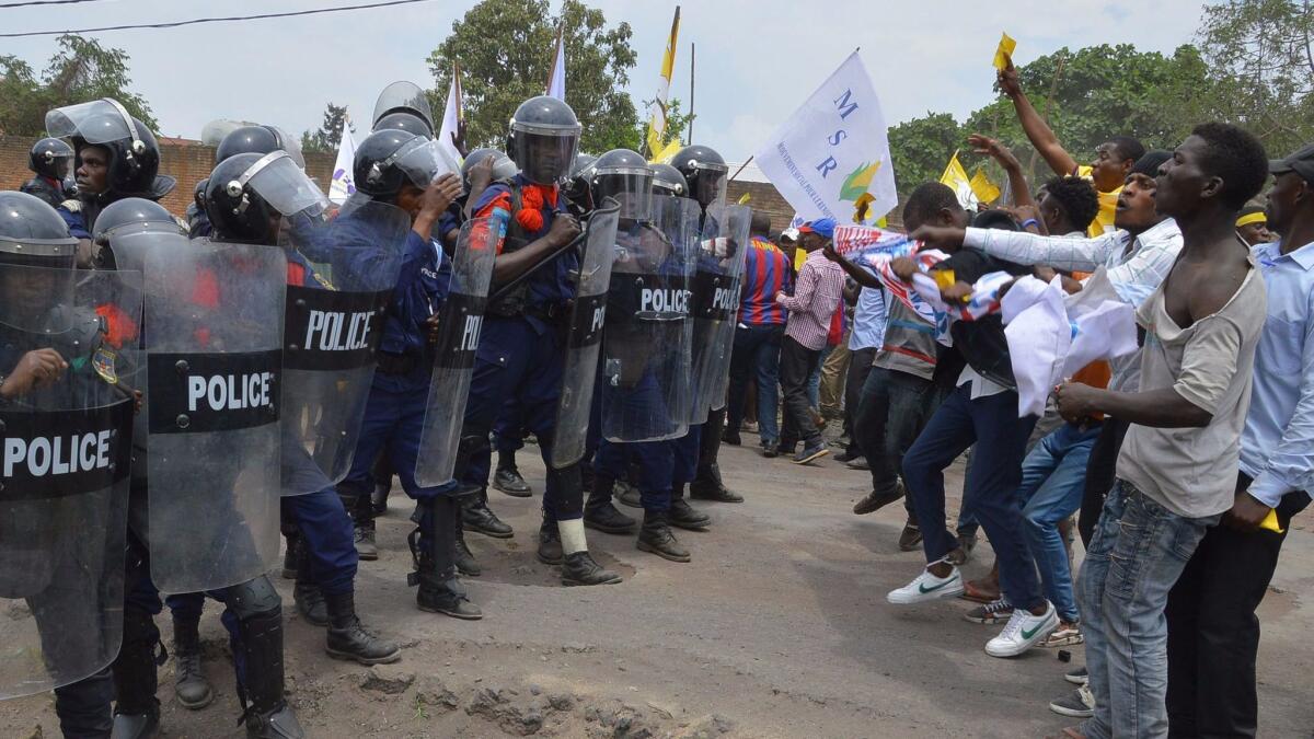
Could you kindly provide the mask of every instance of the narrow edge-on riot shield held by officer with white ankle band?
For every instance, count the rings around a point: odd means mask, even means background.
[[[549,463],[555,469],[583,459],[589,442],[593,385],[598,379],[598,350],[607,316],[607,285],[616,252],[620,205],[608,199],[589,216],[579,259],[579,279],[566,325],[565,360],[561,368],[561,398],[557,402]]]

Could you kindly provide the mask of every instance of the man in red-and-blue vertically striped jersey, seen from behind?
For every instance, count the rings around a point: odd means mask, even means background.
[[[767,238],[770,227],[771,218],[766,213],[753,213],[750,247],[744,255],[740,320],[731,352],[729,409],[723,441],[729,444],[740,443],[744,400],[749,377],[754,377],[762,451],[775,456],[775,447],[781,442],[775,423],[781,339],[784,337],[784,318],[788,314],[783,305],[775,302],[775,293],[792,289],[794,279],[788,258]]]

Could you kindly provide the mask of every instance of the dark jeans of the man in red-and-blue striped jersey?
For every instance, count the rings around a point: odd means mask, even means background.
[[[757,430],[762,446],[775,446],[781,429],[775,412],[781,402],[781,338],[784,326],[740,326],[731,351],[731,383],[725,427],[738,433],[749,377],[757,380]]]

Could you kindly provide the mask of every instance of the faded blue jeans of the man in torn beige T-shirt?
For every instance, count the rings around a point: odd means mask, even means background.
[[[1091,739],[1167,736],[1168,592],[1218,515],[1184,518],[1126,480],[1104,501],[1077,579],[1095,715]]]

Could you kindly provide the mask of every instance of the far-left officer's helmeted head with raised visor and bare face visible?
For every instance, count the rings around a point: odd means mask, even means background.
[[[46,113],[46,130],[74,145],[78,197],[64,200],[59,214],[79,239],[78,266],[89,268],[96,263],[91,234],[101,209],[124,197],[160,200],[177,181],[159,174],[155,134],[112,97],[55,108]]]

